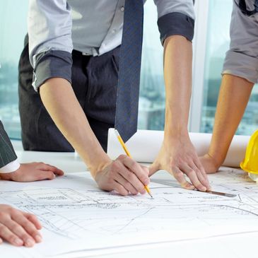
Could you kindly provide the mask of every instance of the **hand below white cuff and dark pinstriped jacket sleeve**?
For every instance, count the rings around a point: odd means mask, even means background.
[[[62,170],[45,163],[23,163],[14,172],[1,173],[1,180],[12,180],[16,182],[32,182],[40,180],[52,180],[56,175],[64,175]]]

